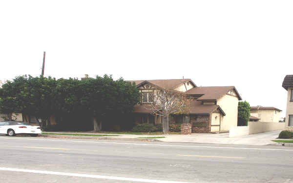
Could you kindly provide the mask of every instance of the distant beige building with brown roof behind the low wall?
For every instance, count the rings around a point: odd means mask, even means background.
[[[279,122],[281,111],[275,107],[252,106],[250,113],[258,122]]]

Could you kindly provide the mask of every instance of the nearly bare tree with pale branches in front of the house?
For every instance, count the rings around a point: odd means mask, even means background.
[[[190,99],[188,95],[174,90],[155,90],[152,94],[153,102],[146,107],[151,109],[154,115],[162,116],[163,133],[169,131],[169,114],[188,113]]]

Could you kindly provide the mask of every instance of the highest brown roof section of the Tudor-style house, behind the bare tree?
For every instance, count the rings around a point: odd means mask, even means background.
[[[135,80],[135,81],[129,81],[129,82],[135,82],[135,84],[141,85],[144,82],[149,82],[155,86],[158,86],[160,88],[166,89],[166,90],[172,90],[176,88],[178,85],[190,81],[194,86],[196,86],[192,80],[190,79],[174,79],[174,80]]]

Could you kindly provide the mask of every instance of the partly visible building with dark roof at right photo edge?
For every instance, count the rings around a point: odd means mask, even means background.
[[[287,90],[285,126],[286,129],[293,131],[293,75],[287,75],[282,86]]]

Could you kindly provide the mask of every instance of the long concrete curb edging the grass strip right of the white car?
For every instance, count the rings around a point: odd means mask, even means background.
[[[40,134],[39,137],[59,138],[59,139],[91,139],[91,140],[111,140],[111,141],[163,142],[163,141],[159,141],[157,139],[119,138],[119,137],[95,137],[95,136],[74,136],[74,135],[45,135],[45,134]]]

